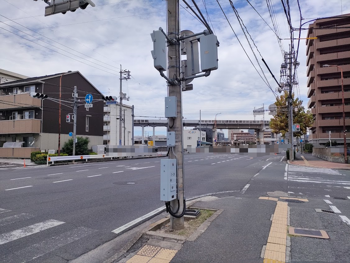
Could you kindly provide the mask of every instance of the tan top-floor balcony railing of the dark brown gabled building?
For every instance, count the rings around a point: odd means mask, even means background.
[[[0,96],[0,110],[15,108],[40,108],[41,101],[29,96],[28,92]]]

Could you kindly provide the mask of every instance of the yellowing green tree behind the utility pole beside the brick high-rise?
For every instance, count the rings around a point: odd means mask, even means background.
[[[287,101],[288,92],[285,92],[281,96],[276,97],[277,114],[270,120],[270,128],[273,133],[281,133],[285,137],[286,132],[288,132],[288,115],[287,115]],[[292,105],[293,108],[297,108],[297,111],[293,111],[293,123],[300,124],[300,131],[293,132],[294,137],[300,137],[306,134],[308,127],[314,123],[313,115],[309,112],[305,112],[304,106],[302,106],[303,101],[299,98],[294,99],[294,93],[292,94]]]

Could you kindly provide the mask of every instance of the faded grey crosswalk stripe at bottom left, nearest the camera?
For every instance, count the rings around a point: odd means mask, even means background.
[[[63,247],[64,245],[77,241],[84,236],[91,235],[96,231],[97,230],[90,229],[90,228],[79,227],[71,231],[65,232],[61,235],[48,238],[47,240],[31,245],[20,251],[16,251],[10,255],[3,257],[0,261],[3,263],[17,263],[17,262],[31,261],[53,250]]]

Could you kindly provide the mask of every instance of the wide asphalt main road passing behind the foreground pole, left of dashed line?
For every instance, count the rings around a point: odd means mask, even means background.
[[[66,262],[112,240],[164,205],[162,158],[0,170],[0,262]],[[240,191],[264,163],[186,154],[185,196]]]

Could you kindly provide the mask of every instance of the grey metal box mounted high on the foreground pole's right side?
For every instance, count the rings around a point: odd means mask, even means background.
[[[216,35],[202,36],[201,42],[201,70],[215,70],[218,68],[218,46]]]

